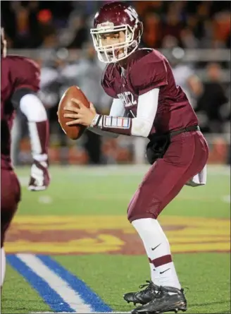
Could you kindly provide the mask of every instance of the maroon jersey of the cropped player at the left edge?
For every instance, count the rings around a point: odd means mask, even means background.
[[[11,128],[14,107],[12,96],[16,90],[39,90],[40,71],[34,61],[23,56],[1,58],[1,168],[11,167]]]

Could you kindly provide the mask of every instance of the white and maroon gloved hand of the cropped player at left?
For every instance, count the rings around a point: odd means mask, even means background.
[[[48,171],[48,161],[38,162],[34,159],[31,167],[28,190],[44,191],[49,186],[50,176]]]

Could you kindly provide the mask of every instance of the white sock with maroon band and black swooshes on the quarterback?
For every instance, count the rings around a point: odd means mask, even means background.
[[[142,238],[149,258],[151,281],[158,286],[181,289],[173,264],[168,238],[156,219],[142,218],[132,222]],[[163,273],[162,273],[163,272]]]

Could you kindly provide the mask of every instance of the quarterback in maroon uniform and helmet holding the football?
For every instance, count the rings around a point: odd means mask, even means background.
[[[168,239],[158,215],[208,159],[208,146],[196,114],[168,60],[154,49],[138,49],[143,26],[137,12],[124,2],[105,4],[96,13],[91,30],[99,60],[108,64],[102,78],[113,97],[110,115],[96,114],[93,104],[66,117],[104,135],[149,138],[146,156],[152,164],[128,205],[127,216],[142,238],[151,268],[146,289],[125,294],[125,301],[141,303],[132,313],[186,310]]]

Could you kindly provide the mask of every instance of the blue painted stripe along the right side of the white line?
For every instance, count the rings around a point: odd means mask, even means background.
[[[68,285],[79,294],[85,304],[91,306],[94,312],[104,313],[113,312],[113,309],[108,306],[104,301],[85,284],[81,279],[77,278],[74,274],[66,270],[56,260],[53,260],[47,255],[37,255],[37,258],[42,260],[44,265],[53,270],[59,277],[61,277]]]

